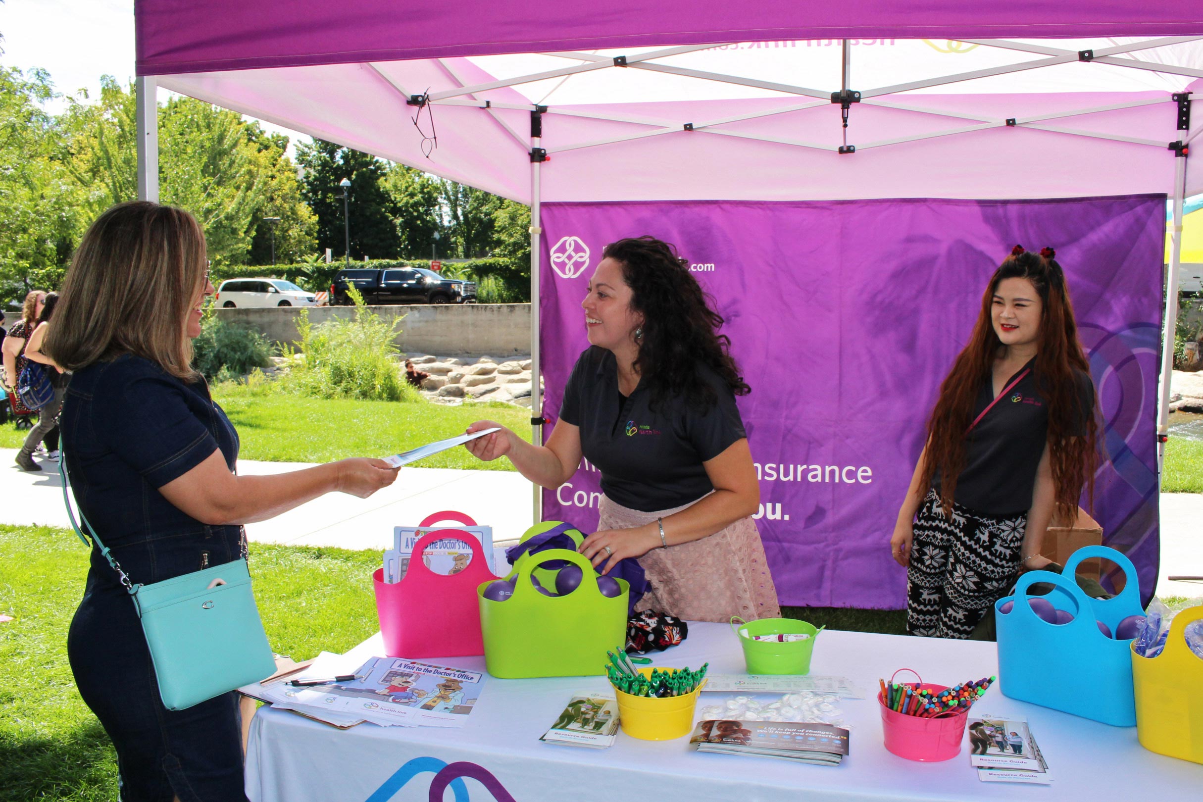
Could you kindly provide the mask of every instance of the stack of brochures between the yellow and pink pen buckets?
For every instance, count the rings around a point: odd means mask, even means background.
[[[804,721],[699,721],[689,743],[698,751],[780,758],[837,766],[848,754],[848,731]]]

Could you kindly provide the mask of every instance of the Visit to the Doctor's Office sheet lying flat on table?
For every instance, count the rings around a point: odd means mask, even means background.
[[[289,688],[298,705],[354,713],[377,724],[463,726],[473,711],[484,675],[404,658],[371,658],[354,682]]]

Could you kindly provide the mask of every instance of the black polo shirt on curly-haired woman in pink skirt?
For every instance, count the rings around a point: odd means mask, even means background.
[[[580,427],[581,452],[602,473],[602,492],[611,500],[654,512],[715,489],[701,463],[747,435],[731,388],[710,368],[699,372],[718,399],[710,410],[672,398],[652,412],[645,382],[626,399],[618,393],[614,354],[593,346],[576,360],[559,417]]]

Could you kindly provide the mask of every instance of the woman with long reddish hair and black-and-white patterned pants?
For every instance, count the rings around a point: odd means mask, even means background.
[[[1054,510],[1072,519],[1094,491],[1095,386],[1054,256],[1015,245],[940,386],[890,539],[912,635],[967,638],[1021,571],[1049,564]]]

